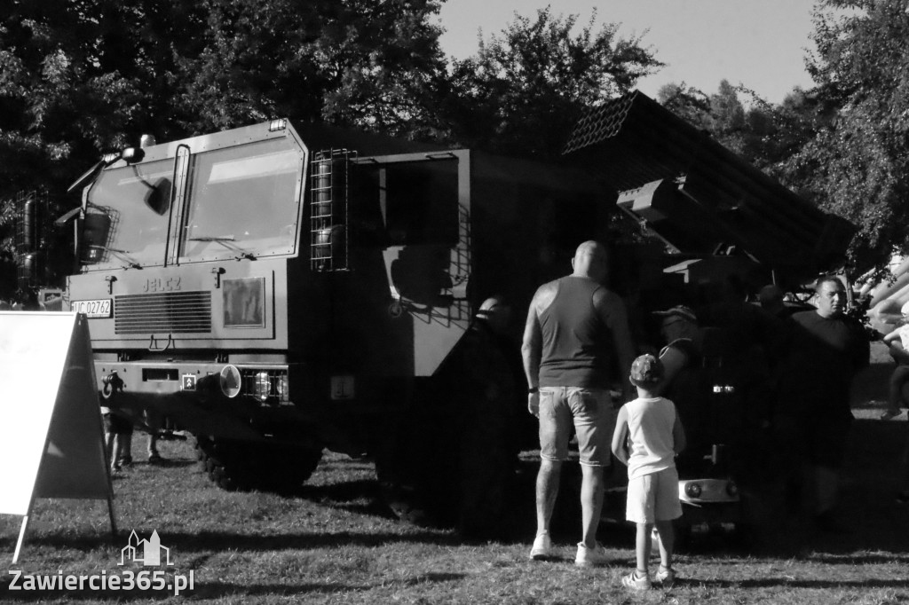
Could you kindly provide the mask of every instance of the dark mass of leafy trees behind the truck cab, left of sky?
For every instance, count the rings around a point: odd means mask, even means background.
[[[139,135],[269,117],[425,130],[443,0],[7,0],[0,5],[0,263],[10,204]],[[4,252],[5,251],[5,252]],[[4,284],[0,284],[0,292]],[[8,286],[7,286],[8,289]]]

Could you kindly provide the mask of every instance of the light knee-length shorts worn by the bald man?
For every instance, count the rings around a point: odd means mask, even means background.
[[[609,466],[615,414],[605,389],[540,389],[540,458],[568,460],[573,422],[581,464]]]

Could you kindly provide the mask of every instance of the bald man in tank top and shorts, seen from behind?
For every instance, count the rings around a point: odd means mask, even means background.
[[[604,469],[611,463],[614,411],[609,369],[617,355],[628,400],[631,385],[626,377],[634,360],[624,302],[603,284],[608,260],[602,244],[582,243],[574,253],[574,271],[540,286],[527,313],[521,352],[530,388],[528,408],[540,419],[537,528],[530,551],[534,560],[554,555],[549,522],[574,423],[581,454],[583,531],[574,563],[605,563],[596,530],[603,508]]]

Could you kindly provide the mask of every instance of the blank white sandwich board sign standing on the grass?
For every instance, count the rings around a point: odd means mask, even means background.
[[[0,312],[0,514],[35,498],[106,500],[116,531],[88,322],[75,312]]]

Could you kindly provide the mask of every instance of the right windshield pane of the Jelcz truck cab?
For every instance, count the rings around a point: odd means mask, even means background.
[[[195,154],[180,262],[293,253],[304,162],[290,137]]]

